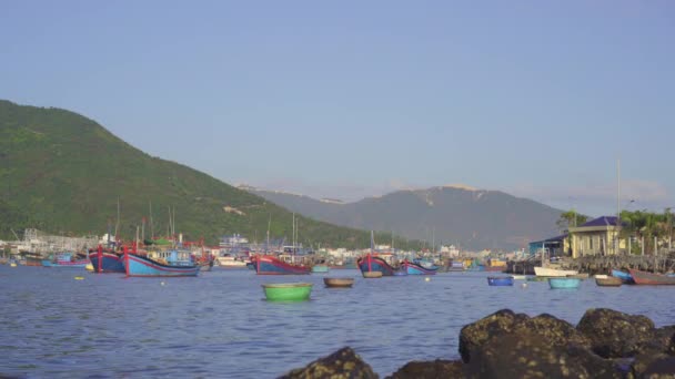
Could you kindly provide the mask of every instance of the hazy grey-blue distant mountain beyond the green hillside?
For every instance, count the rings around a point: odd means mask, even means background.
[[[462,248],[515,249],[558,233],[561,211],[500,191],[441,186],[399,191],[340,204],[283,192],[248,191],[290,211],[361,229],[392,231],[411,239],[435,239]]]

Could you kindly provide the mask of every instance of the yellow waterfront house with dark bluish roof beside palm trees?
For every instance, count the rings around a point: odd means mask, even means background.
[[[617,254],[626,247],[626,242],[618,238],[619,229],[615,216],[602,216],[570,227],[572,257]]]

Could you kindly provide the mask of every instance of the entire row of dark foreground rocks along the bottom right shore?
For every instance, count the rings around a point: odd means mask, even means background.
[[[586,310],[578,325],[502,309],[460,332],[459,360],[411,361],[387,378],[673,378],[675,325]],[[379,378],[349,347],[281,378]]]

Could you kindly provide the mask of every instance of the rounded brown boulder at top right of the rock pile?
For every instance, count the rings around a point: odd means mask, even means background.
[[[591,340],[591,348],[604,358],[635,357],[654,340],[654,322],[613,309],[588,309],[576,329]]]

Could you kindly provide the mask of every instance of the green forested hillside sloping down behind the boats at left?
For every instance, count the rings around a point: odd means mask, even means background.
[[[118,235],[132,238],[142,218],[145,235],[169,231],[216,243],[240,233],[262,240],[292,235],[292,214],[184,165],[152,157],[94,121],[53,107],[0,101],[0,238],[34,227],[63,235],[102,235],[121,217]],[[149,225],[152,203],[152,227]],[[225,207],[230,212],[225,212]],[[239,211],[239,212],[235,212]],[[370,233],[299,219],[305,246],[366,247]],[[389,235],[376,236],[389,240]],[[402,246],[402,242],[397,242]]]

